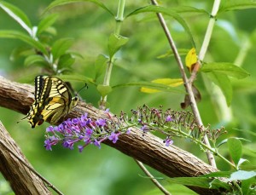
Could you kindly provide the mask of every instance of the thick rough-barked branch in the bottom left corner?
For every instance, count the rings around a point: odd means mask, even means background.
[[[23,162],[26,162],[28,166],[32,167],[20,151],[19,146],[15,144],[15,141],[10,137],[6,129],[4,129],[3,123],[1,122],[0,141],[0,171],[4,178],[9,181],[15,194],[51,194],[48,188],[44,186],[44,182],[6,149],[8,147]]]

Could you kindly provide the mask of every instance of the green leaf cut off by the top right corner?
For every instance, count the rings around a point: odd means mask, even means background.
[[[256,2],[251,0],[232,0],[232,1],[223,1],[218,9],[218,13],[224,11],[231,11],[236,9],[255,9]]]

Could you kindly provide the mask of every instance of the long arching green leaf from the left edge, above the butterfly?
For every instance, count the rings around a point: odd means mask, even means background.
[[[44,48],[44,45],[42,43],[37,42],[32,37],[27,36],[23,32],[17,32],[17,31],[0,31],[0,37],[4,38],[17,38],[21,41],[28,43],[33,48],[38,49],[43,54],[48,55],[47,50]]]

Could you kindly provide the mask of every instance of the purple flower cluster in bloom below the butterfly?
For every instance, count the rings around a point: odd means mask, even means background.
[[[44,141],[46,150],[51,151],[51,147],[58,143],[62,143],[62,146],[73,150],[75,143],[82,142],[83,145],[78,146],[79,152],[82,152],[84,147],[89,144],[101,148],[102,141],[107,139],[116,143],[121,134],[115,130],[111,131],[106,119],[92,120],[87,113],[80,118],[68,118],[67,121],[58,126],[49,126],[46,133],[46,140]]]

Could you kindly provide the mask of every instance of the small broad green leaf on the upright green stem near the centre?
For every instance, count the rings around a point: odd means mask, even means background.
[[[109,58],[113,57],[113,54],[115,54],[125,43],[127,43],[129,38],[122,37],[117,34],[111,34],[108,38],[108,53]]]

